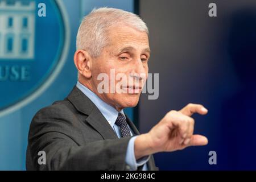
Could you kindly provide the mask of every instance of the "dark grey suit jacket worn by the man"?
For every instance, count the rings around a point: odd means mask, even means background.
[[[139,134],[127,117],[127,123]],[[127,170],[125,156],[131,137],[118,138],[100,110],[76,86],[63,101],[36,113],[28,134],[27,170]],[[39,151],[46,164],[39,164]],[[157,170],[154,159],[147,162]]]

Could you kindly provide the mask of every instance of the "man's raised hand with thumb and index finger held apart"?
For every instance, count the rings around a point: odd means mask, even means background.
[[[202,135],[193,135],[194,113],[207,114],[208,110],[199,104],[188,104],[180,111],[169,111],[164,118],[148,133],[139,135],[135,140],[135,156],[163,151],[182,150],[188,146],[203,146],[208,139]]]

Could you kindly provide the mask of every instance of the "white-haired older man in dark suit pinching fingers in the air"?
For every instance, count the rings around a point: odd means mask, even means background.
[[[191,115],[207,113],[201,105],[168,112],[146,134],[139,134],[123,113],[138,104],[149,57],[148,29],[137,15],[100,8],[85,16],[74,55],[77,84],[67,98],[32,119],[27,169],[156,170],[152,154],[207,144],[207,138],[193,135]],[[123,77],[111,80],[111,70]],[[101,73],[109,76],[105,92],[99,91]],[[124,78],[133,84],[120,84]],[[122,92],[111,92],[111,82]],[[45,163],[39,161],[40,151]]]

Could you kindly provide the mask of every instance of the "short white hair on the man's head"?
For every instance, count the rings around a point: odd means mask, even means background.
[[[102,48],[109,42],[107,35],[109,28],[120,24],[148,34],[146,23],[138,15],[124,10],[101,7],[93,9],[82,19],[76,36],[76,49],[88,51],[92,57],[100,56]]]

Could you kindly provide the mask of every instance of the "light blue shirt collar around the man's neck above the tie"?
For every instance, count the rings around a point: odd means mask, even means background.
[[[82,85],[79,81],[77,81],[76,86],[79,90],[81,90],[82,93],[85,94],[85,96],[87,96],[93,102],[94,105],[96,105],[96,107],[98,107],[98,110],[100,110],[101,114],[104,115],[110,126],[113,128],[115,120],[118,117],[118,111],[114,107],[102,101],[100,97],[98,97],[86,86]],[[119,112],[125,115],[125,113],[123,113],[123,110]]]

